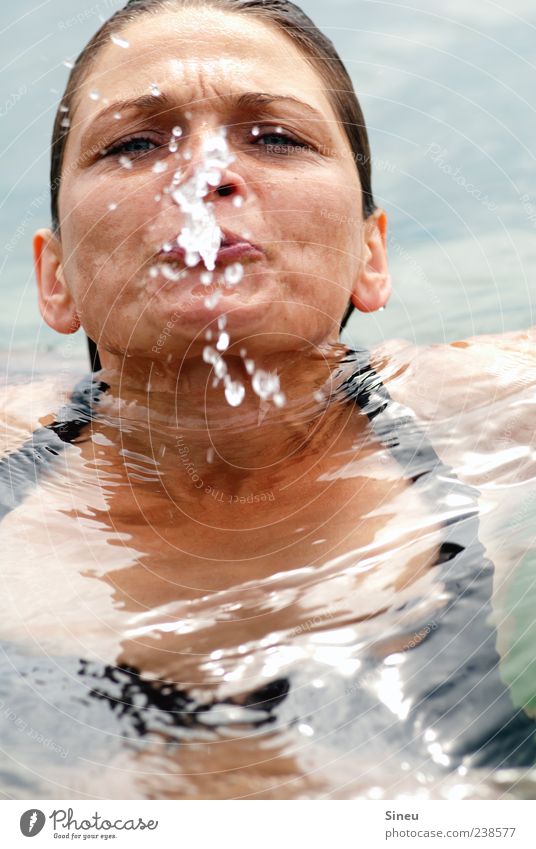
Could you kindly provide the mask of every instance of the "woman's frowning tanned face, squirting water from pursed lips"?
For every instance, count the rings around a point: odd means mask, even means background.
[[[384,222],[383,232],[364,226],[346,137],[322,80],[287,37],[257,19],[204,8],[145,15],[120,39],[128,48],[110,40],[101,50],[70,115],[61,242],[47,247],[57,250],[56,292],[64,287],[64,297],[47,320],[54,326],[59,315],[64,328],[78,315],[100,349],[169,361],[198,356],[222,313],[232,342],[280,351],[335,342],[351,295],[360,308],[381,306],[389,294]],[[276,99],[237,105],[246,92]],[[137,106],[120,104],[141,96]],[[183,132],[171,152],[176,126]],[[235,158],[220,185],[232,190],[212,190],[206,202],[221,228],[246,234],[263,253],[244,260],[241,282],[209,308],[204,266],[179,281],[150,268],[186,220],[166,192],[173,174],[181,168],[181,179],[191,177],[203,140],[223,126]]]

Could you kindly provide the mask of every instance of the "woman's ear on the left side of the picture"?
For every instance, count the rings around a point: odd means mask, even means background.
[[[52,230],[43,228],[35,233],[33,256],[41,315],[58,333],[74,333],[80,318],[65,283],[61,242]]]

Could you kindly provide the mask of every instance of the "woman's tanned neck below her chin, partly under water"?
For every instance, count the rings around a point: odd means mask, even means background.
[[[299,459],[325,450],[349,418],[337,389],[348,374],[342,344],[255,356],[256,369],[277,374],[284,403],[263,400],[240,356],[225,356],[227,373],[245,395],[231,406],[223,382],[198,356],[165,366],[104,353],[99,379],[110,387],[98,421],[123,456],[146,458],[174,493],[269,491]],[[104,418],[103,418],[104,417]],[[327,440],[327,442],[326,442]]]

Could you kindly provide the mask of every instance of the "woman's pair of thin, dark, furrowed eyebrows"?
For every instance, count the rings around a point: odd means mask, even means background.
[[[220,102],[224,106],[233,107],[235,111],[244,111],[256,114],[262,114],[263,110],[267,110],[270,106],[278,103],[288,103],[301,108],[308,114],[316,117],[320,121],[325,121],[326,118],[318,109],[315,109],[309,103],[299,100],[290,94],[270,94],[262,91],[246,91],[239,95],[225,94],[220,95]],[[180,108],[187,109],[192,103],[182,104]],[[142,94],[140,97],[135,97],[129,100],[116,100],[110,103],[105,109],[102,109],[91,122],[90,127],[84,133],[81,146],[84,146],[86,140],[91,137],[95,127],[100,124],[110,114],[120,113],[124,111],[137,111],[146,114],[166,114],[177,108],[177,102],[167,95],[165,92],[160,94]]]

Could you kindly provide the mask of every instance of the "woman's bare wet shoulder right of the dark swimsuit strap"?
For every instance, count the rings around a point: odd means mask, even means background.
[[[423,421],[455,416],[536,388],[536,331],[448,344],[395,339],[372,352],[391,396]]]

